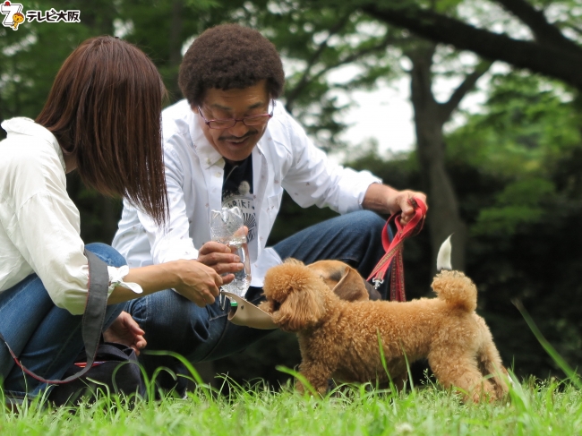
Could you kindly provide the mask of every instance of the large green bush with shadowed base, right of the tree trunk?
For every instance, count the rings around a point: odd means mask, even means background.
[[[523,302],[573,366],[582,363],[582,137],[576,94],[539,77],[492,81],[484,111],[448,137],[449,171],[469,224],[467,272],[505,362],[560,373],[518,316]]]

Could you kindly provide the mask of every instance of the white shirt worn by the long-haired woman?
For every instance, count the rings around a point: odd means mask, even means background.
[[[36,272],[56,306],[81,314],[89,266],[79,210],[66,192],[63,152],[29,118],[6,120],[2,128],[8,137],[0,142],[0,292]],[[107,269],[110,294],[129,269]]]

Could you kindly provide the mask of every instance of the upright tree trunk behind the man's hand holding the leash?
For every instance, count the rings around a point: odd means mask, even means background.
[[[454,234],[452,265],[465,269],[466,224],[459,216],[457,195],[445,168],[443,108],[432,95],[432,55],[435,45],[420,45],[407,52],[413,64],[411,96],[415,110],[417,154],[424,190],[428,195],[427,225],[432,246],[432,269],[442,242]],[[448,119],[449,116],[446,116]]]

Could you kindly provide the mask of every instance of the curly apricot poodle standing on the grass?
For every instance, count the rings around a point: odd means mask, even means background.
[[[299,370],[321,394],[330,378],[387,381],[380,338],[389,376],[398,388],[407,379],[406,362],[426,357],[440,383],[458,389],[465,401],[503,397],[508,387],[501,374],[507,372],[491,332],[475,313],[475,285],[462,272],[443,271],[432,289],[437,298],[347,302],[314,270],[287,261],[267,272],[267,301],[261,309],[281,329],[297,333]],[[304,389],[300,382],[297,389]]]

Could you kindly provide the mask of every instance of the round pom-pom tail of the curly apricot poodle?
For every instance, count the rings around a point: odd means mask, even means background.
[[[466,312],[474,312],[477,308],[477,288],[460,271],[441,271],[432,280],[432,289],[441,300]]]

